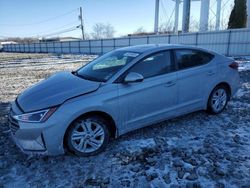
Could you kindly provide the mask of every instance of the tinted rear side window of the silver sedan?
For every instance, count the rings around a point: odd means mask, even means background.
[[[176,50],[179,69],[186,69],[206,64],[213,59],[213,55],[199,50]]]

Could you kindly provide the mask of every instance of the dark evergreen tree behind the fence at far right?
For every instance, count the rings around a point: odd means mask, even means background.
[[[246,9],[246,0],[234,0],[234,7],[229,17],[228,29],[246,27]]]

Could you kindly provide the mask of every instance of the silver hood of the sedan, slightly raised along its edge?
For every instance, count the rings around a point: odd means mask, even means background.
[[[69,98],[93,92],[99,86],[99,82],[60,72],[25,90],[17,102],[24,112],[30,112],[60,105]]]

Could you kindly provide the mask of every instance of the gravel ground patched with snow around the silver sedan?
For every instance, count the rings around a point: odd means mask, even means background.
[[[200,111],[134,131],[94,157],[21,153],[10,139],[9,102],[92,58],[0,53],[0,187],[250,187],[249,62],[241,63],[240,89],[219,115]]]

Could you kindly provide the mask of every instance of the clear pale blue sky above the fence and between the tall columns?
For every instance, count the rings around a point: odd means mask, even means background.
[[[222,17],[226,21],[232,5],[233,0],[222,0]],[[73,28],[80,24],[80,6],[87,33],[95,23],[111,24],[115,36],[133,33],[139,27],[153,31],[155,0],[0,0],[0,37],[37,37]],[[210,20],[215,22],[216,0],[211,0],[210,9]],[[173,11],[173,0],[161,0],[160,24],[173,23]],[[199,16],[200,2],[193,1],[191,22],[198,21]],[[181,28],[182,4],[179,18]],[[80,34],[80,30],[75,30],[60,36]]]

